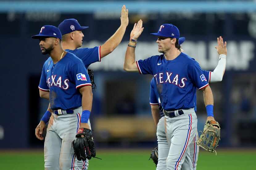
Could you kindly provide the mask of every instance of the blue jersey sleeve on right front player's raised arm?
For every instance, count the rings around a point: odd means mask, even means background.
[[[136,61],[139,73],[140,74],[153,74],[152,62],[153,62],[153,57],[149,57],[145,60]]]

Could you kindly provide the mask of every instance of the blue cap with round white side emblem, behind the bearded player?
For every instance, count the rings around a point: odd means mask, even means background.
[[[81,31],[81,30],[84,30],[89,27],[88,26],[80,26],[78,21],[76,19],[72,18],[72,19],[64,19],[64,21],[62,21],[60,23],[58,28],[60,29],[61,34],[65,35],[65,34],[73,32],[73,31]]]

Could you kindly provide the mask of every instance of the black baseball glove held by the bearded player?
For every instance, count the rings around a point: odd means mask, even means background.
[[[77,160],[85,161],[96,156],[96,150],[93,141],[93,131],[87,128],[79,128],[76,133],[76,139],[72,142],[72,147]]]

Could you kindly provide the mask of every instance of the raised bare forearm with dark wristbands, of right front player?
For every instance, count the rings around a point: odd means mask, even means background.
[[[129,45],[136,46],[136,43],[129,42]],[[138,71],[138,67],[135,61],[135,48],[128,46],[125,53],[124,61],[124,70],[125,71]]]

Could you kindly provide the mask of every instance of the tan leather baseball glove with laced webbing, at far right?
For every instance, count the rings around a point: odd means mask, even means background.
[[[196,144],[208,152],[214,152],[220,141],[220,131],[220,124],[217,121],[206,121],[204,131]]]

